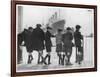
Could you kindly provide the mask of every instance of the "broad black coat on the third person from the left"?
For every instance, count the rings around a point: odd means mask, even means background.
[[[41,51],[44,49],[45,35],[41,28],[36,28],[32,33],[32,46],[33,50]]]

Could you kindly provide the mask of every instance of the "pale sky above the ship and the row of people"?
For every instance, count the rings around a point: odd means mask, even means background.
[[[84,35],[88,35],[94,32],[93,9],[50,7],[50,6],[48,7],[48,6],[33,6],[33,5],[18,5],[18,6],[23,7],[22,29],[28,28],[29,26],[35,28],[37,23],[46,24],[49,18],[56,11],[59,12],[60,10],[60,18],[65,19],[66,22],[65,27],[75,28],[75,26],[79,24],[82,26],[81,32]]]

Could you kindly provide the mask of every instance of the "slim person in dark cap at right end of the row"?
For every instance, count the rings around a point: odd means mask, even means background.
[[[83,48],[82,48],[83,36],[80,32],[80,28],[81,28],[80,25],[76,25],[76,31],[74,32],[74,40],[75,40],[75,46],[76,46],[76,63],[78,62],[77,53],[81,53],[81,55],[83,55]],[[83,56],[81,58],[83,58]],[[82,59],[80,61],[82,61]],[[81,62],[79,62],[79,64],[80,63]]]

